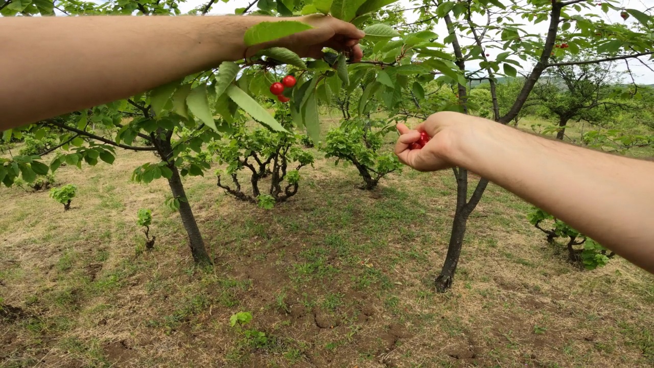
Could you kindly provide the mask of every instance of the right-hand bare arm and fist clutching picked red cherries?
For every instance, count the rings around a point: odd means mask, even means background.
[[[458,166],[521,196],[654,273],[654,162],[552,141],[487,119],[441,112],[410,130],[396,154],[421,171]],[[433,138],[408,149],[419,130]]]

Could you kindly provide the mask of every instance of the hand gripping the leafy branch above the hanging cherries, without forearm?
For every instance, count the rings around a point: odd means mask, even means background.
[[[320,59],[323,56],[322,48],[324,47],[349,53],[355,63],[359,62],[363,57],[363,52],[358,43],[366,33],[357,29],[351,23],[321,14],[297,18],[276,18],[276,20],[297,20],[312,26],[313,29],[307,29],[270,43],[256,45],[248,50],[248,57],[258,50],[271,46],[288,48],[300,55],[301,58]]]

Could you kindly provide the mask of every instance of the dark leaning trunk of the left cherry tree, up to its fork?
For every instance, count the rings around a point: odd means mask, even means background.
[[[196,217],[193,215],[190,204],[188,204],[186,191],[184,191],[184,185],[182,184],[182,178],[179,175],[175,163],[172,160],[169,160],[173,155],[173,147],[170,144],[170,136],[172,135],[172,132],[166,132],[166,139],[161,138],[163,133],[164,131],[160,128],[156,134],[151,134],[151,137],[154,147],[156,147],[162,161],[165,162],[168,168],[173,172],[173,175],[168,179],[168,185],[173,193],[173,198],[179,200],[179,215],[182,219],[182,225],[184,225],[186,234],[188,234],[188,245],[191,248],[191,254],[193,255],[194,261],[199,265],[211,265],[211,259],[207,254],[207,249],[205,249],[204,240],[202,240],[202,234],[200,234]]]

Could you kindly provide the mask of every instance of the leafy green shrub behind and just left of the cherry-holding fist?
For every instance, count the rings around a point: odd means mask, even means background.
[[[385,120],[366,117],[343,120],[341,126],[327,133],[320,147],[325,158],[336,157],[356,167],[364,185],[361,189],[374,189],[379,179],[394,171],[400,171],[402,164],[391,151],[382,152],[383,138],[394,129],[394,124]]]

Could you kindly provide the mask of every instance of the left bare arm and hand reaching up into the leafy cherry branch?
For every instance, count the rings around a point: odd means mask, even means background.
[[[320,58],[324,46],[362,57],[364,33],[326,16],[314,27],[247,48],[264,16],[16,17],[0,20],[0,131],[128,98],[182,77],[284,46]],[[18,37],[17,35],[20,35]]]

